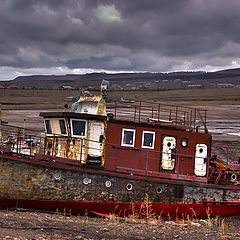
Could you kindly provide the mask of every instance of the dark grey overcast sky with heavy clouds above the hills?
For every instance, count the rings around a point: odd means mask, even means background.
[[[0,80],[240,67],[240,0],[1,0]]]

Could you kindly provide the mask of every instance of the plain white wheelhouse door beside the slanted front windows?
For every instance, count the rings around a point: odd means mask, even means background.
[[[92,122],[90,123],[89,131],[89,143],[88,143],[88,155],[91,157],[100,157],[103,153],[103,133],[104,123]]]

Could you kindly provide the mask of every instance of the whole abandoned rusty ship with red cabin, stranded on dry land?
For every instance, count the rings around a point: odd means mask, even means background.
[[[0,126],[0,209],[240,215],[239,147],[212,146],[206,110],[99,94],[40,115],[45,132]]]

